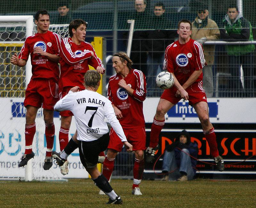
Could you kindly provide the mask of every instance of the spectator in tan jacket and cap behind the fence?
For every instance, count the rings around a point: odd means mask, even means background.
[[[204,58],[207,66],[203,69],[203,88],[207,97],[213,97],[213,73],[215,45],[204,45],[205,41],[220,39],[220,30],[216,22],[208,18],[208,8],[202,6],[197,11],[198,16],[192,22],[191,38],[203,45]]]

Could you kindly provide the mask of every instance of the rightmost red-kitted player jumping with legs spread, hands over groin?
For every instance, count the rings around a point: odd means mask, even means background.
[[[208,141],[211,155],[219,171],[224,170],[224,162],[219,155],[216,135],[209,119],[208,103],[202,86],[202,69],[206,65],[202,45],[190,38],[192,24],[182,19],[178,23],[179,40],[173,42],[165,50],[164,70],[174,77],[174,86],[164,90],[151,126],[150,144],[146,150],[146,162],[154,160],[159,134],[164,127],[164,115],[181,99],[189,100],[189,105],[196,110]]]

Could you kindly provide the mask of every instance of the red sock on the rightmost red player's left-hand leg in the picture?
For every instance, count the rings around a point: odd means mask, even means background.
[[[158,140],[159,140],[159,134],[164,127],[164,123],[165,123],[165,120],[158,121],[154,118],[152,126],[151,126],[149,147],[157,146]]]

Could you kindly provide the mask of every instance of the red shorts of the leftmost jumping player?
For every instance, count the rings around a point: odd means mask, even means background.
[[[59,100],[58,90],[58,83],[52,79],[31,79],[26,89],[24,106],[41,108],[43,104],[44,109],[53,110],[53,106]]]

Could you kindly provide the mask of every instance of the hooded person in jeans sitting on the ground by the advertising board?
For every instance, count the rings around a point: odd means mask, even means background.
[[[163,171],[165,181],[190,181],[196,175],[198,145],[190,141],[190,134],[183,130],[171,145],[165,148]],[[169,173],[171,172],[171,173]]]

